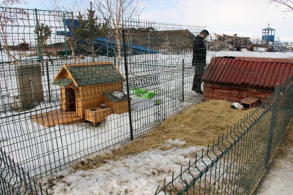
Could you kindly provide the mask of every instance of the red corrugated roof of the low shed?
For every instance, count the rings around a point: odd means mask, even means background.
[[[249,84],[264,87],[282,85],[293,75],[293,58],[214,57],[205,70],[204,81]]]

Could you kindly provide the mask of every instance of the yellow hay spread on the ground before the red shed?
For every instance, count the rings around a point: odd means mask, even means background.
[[[108,160],[118,160],[121,156],[134,155],[148,149],[158,148],[168,139],[179,139],[186,144],[180,147],[207,146],[214,139],[226,133],[251,110],[231,109],[231,102],[211,100],[188,107],[181,114],[169,117],[150,133],[125,144],[112,154],[97,155],[87,162],[81,161],[74,165],[76,169],[88,170],[99,167]],[[160,147],[162,150],[168,147]]]

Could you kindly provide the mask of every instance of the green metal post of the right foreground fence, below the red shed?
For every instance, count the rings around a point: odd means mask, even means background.
[[[268,167],[269,159],[270,159],[270,151],[271,151],[271,145],[272,145],[272,135],[273,135],[273,130],[275,126],[275,119],[276,119],[276,107],[277,107],[277,96],[279,93],[279,86],[280,84],[276,83],[275,85],[275,92],[274,92],[274,103],[272,106],[272,116],[271,116],[271,123],[270,123],[270,130],[269,130],[269,137],[268,137],[268,147],[267,147],[267,152],[265,156],[265,167]]]

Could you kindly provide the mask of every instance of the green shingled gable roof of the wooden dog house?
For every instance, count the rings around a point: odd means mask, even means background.
[[[64,76],[65,72],[69,72],[67,78]],[[67,66],[65,64],[54,80],[52,84],[65,87],[72,83],[76,86],[86,86],[119,82],[125,79],[112,64],[91,64],[87,66]]]

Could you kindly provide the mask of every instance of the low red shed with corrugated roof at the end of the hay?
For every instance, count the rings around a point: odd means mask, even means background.
[[[259,98],[262,102],[293,75],[292,58],[214,57],[205,70],[204,96],[236,102]]]

